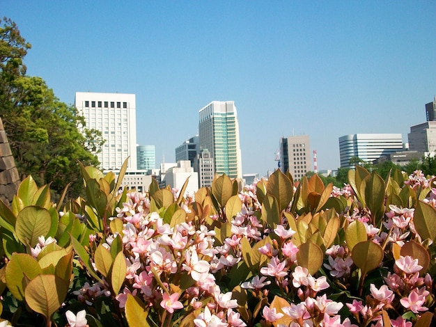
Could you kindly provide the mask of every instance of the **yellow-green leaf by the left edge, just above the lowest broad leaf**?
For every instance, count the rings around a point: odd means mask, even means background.
[[[15,253],[6,266],[6,285],[18,301],[23,301],[27,282],[40,273],[42,269],[34,257],[25,253]]]

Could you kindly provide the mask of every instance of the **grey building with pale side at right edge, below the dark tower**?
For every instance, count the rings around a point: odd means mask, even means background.
[[[429,120],[410,127],[409,150],[420,152],[436,151],[436,121]]]

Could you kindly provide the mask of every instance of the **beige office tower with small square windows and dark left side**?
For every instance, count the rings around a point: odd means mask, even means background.
[[[280,170],[289,170],[299,180],[312,170],[311,141],[308,135],[289,136],[280,139]]]

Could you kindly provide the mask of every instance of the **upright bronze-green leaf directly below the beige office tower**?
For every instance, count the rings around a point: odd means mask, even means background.
[[[277,169],[272,173],[267,182],[267,194],[274,196],[279,205],[279,211],[286,209],[294,196],[294,185],[290,179]]]

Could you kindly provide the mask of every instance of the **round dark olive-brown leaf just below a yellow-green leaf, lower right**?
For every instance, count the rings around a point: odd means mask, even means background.
[[[371,239],[359,242],[352,249],[352,261],[361,269],[362,276],[376,269],[383,260],[383,249]]]

